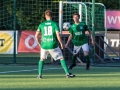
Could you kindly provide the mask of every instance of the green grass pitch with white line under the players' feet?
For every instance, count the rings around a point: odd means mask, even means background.
[[[43,79],[37,66],[0,66],[0,90],[120,90],[120,67],[77,66],[66,78],[60,65],[45,65]]]

